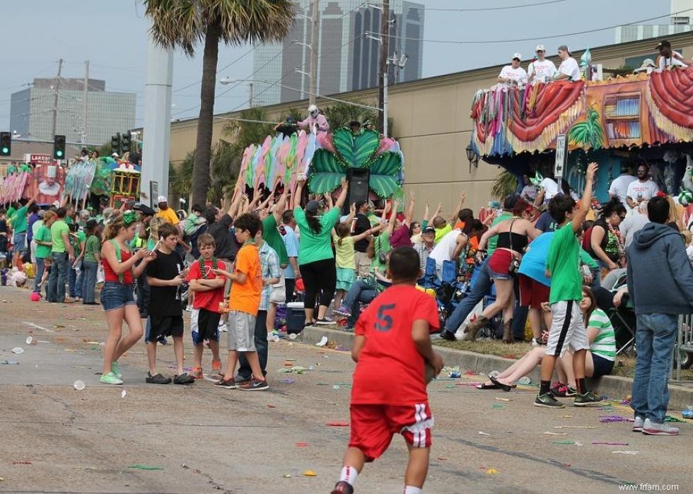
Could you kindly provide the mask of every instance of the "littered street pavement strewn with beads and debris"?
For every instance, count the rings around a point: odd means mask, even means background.
[[[337,480],[349,428],[328,424],[349,421],[348,352],[272,342],[271,389],[248,393],[216,389],[211,380],[146,384],[138,343],[121,359],[125,384],[107,386],[98,382],[107,331],[99,306],[30,302],[28,290],[4,286],[0,300],[0,363],[18,362],[0,365],[0,492],[311,494],[329,493]],[[186,329],[186,365],[189,335]],[[27,336],[37,344],[26,344]],[[16,347],[24,352],[12,353]],[[173,346],[158,354],[159,370],[173,375]],[[204,358],[209,367],[211,356]],[[278,372],[293,365],[308,370]],[[86,388],[74,389],[75,380]],[[482,392],[471,385],[479,380],[429,385],[436,425],[424,492],[615,493],[625,483],[690,489],[689,423],[679,424],[679,437],[646,437],[626,422],[600,423],[600,416],[631,417],[617,401],[608,410],[569,401],[547,410],[532,406],[536,388]],[[356,492],[401,493],[406,463],[404,441],[395,437],[366,465]]]

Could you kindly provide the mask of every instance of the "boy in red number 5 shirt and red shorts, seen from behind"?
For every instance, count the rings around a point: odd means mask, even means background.
[[[351,391],[351,437],[342,475],[332,494],[351,494],[363,463],[388,449],[400,433],[409,447],[404,493],[420,494],[429,469],[433,417],[424,364],[438,375],[441,355],[431,346],[438,328],[436,301],[415,288],[421,276],[412,247],[390,253],[392,286],[378,295],[356,323],[351,358],[356,362]],[[375,379],[373,376],[379,376]]]

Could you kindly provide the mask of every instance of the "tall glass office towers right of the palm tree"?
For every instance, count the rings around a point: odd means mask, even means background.
[[[255,47],[255,105],[308,98],[310,80],[310,0],[297,1],[299,16],[284,41]],[[320,0],[318,23],[318,94],[378,85],[381,0]],[[390,68],[390,82],[421,78],[424,5],[390,1],[390,56],[407,54],[404,69]],[[303,73],[302,73],[303,72]],[[273,86],[279,83],[281,86]]]

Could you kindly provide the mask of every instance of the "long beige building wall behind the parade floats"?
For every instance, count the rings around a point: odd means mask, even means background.
[[[674,47],[685,57],[693,56],[690,33],[670,36]],[[658,40],[629,42],[590,49],[593,63],[605,69],[618,69],[627,57],[653,54]],[[582,52],[575,52],[578,61]],[[557,63],[557,57],[549,57]],[[557,63],[558,65],[558,63]],[[523,66],[528,66],[523,61]],[[467,193],[467,207],[478,211],[491,199],[489,190],[498,167],[479,161],[478,168],[469,171],[465,148],[470,143],[472,120],[469,117],[472,97],[478,89],[496,83],[501,66],[452,73],[390,86],[389,117],[393,120],[390,134],[400,142],[404,153],[404,189],[417,198],[416,216],[421,218],[426,200],[434,209],[443,204],[445,215],[457,204],[460,193]],[[606,76],[606,74],[605,74]],[[339,99],[355,99],[375,103],[375,90],[356,91],[337,95]],[[318,104],[329,103],[327,100]],[[307,102],[291,102],[266,107],[270,119],[282,119],[292,107],[307,106]],[[240,113],[228,114],[238,117]],[[220,115],[223,118],[223,115]],[[225,122],[214,123],[214,142],[221,136]],[[170,159],[180,163],[195,146],[197,119],[171,124]]]

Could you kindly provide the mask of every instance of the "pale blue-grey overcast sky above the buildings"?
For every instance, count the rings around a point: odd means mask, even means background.
[[[329,0],[320,0],[321,2]],[[615,30],[568,36],[663,16],[648,23],[668,24],[670,0],[417,0],[427,9],[496,8],[484,11],[426,10],[425,40],[450,40],[472,44],[424,42],[423,76],[501,64],[520,52],[528,58],[538,42],[555,52],[558,45],[571,48],[610,45]],[[544,5],[528,6],[542,2]],[[524,8],[498,9],[523,5]],[[143,124],[146,35],[148,21],[139,0],[21,0],[2,1],[4,18],[0,40],[4,46],[0,66],[0,129],[11,130],[10,95],[35,77],[54,77],[57,59],[64,59],[62,75],[83,77],[84,60],[91,63],[90,77],[105,79],[107,90],[137,93],[136,126]],[[500,42],[503,40],[520,40]],[[245,54],[245,56],[243,56]],[[240,59],[239,59],[240,58]],[[248,78],[252,73],[249,46],[221,46],[220,77]],[[197,117],[202,48],[188,59],[174,54],[174,117]],[[185,87],[192,84],[190,87]],[[226,90],[220,86],[217,93]],[[243,107],[248,101],[243,85],[217,98],[214,112]],[[188,110],[190,109],[190,110]],[[187,110],[187,111],[185,111]]]

